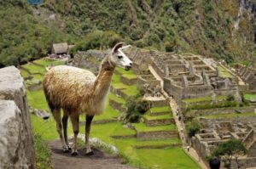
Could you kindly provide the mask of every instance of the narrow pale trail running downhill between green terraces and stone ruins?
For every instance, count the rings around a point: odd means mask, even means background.
[[[154,68],[151,65],[148,65],[148,70],[150,70],[150,72],[153,74],[153,76],[160,81],[161,84],[161,88],[162,88],[162,93],[164,94],[164,96],[170,100],[170,106],[172,108],[172,114],[173,114],[173,118],[174,121],[176,123],[177,126],[177,130],[179,132],[179,137],[182,140],[182,144],[183,144],[183,149],[185,150],[185,152],[194,159],[194,161],[197,161],[197,163],[201,166],[202,169],[207,169],[207,165],[205,164],[204,161],[201,160],[201,157],[197,154],[197,152],[195,151],[195,149],[193,149],[192,147],[189,147],[189,151],[187,149],[185,149],[185,147],[189,146],[188,141],[186,140],[185,137],[185,125],[183,120],[179,121],[178,120],[178,114],[176,114],[176,111],[178,109],[177,103],[175,101],[175,99],[172,99],[168,96],[168,94],[166,93],[166,91],[164,90],[164,82],[161,79],[161,77],[156,73],[156,71],[154,70]],[[183,119],[183,118],[182,118]]]

